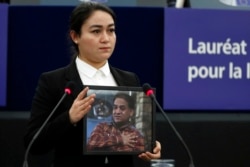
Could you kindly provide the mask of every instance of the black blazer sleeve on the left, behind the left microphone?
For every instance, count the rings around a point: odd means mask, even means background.
[[[38,81],[35,95],[32,100],[31,115],[28,121],[27,132],[24,136],[25,147],[33,140],[34,135],[63,97],[67,81],[61,77],[60,71],[43,73]],[[58,79],[61,78],[61,79]],[[30,152],[43,154],[53,149],[55,143],[66,133],[71,126],[68,110],[74,97],[66,96],[49,119],[39,136],[34,140]]]

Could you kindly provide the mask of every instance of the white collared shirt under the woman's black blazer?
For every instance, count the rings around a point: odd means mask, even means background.
[[[117,86],[108,61],[103,67],[96,69],[77,57],[76,68],[84,85]]]

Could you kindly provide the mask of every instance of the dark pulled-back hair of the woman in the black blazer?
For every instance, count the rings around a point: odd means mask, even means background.
[[[92,13],[97,11],[97,10],[101,10],[101,11],[104,11],[104,12],[110,14],[115,22],[116,15],[110,7],[108,7],[102,3],[98,3],[98,2],[91,2],[91,1],[82,2],[71,13],[70,20],[69,20],[69,32],[71,30],[73,30],[73,31],[75,31],[76,34],[78,34],[80,36],[82,25],[92,15]],[[79,53],[79,49],[78,49],[77,44],[75,44],[71,40],[71,38],[70,38],[70,41],[73,44],[73,48],[72,48],[74,51],[73,57],[75,57]]]

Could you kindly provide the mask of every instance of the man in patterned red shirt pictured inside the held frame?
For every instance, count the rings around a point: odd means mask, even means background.
[[[114,97],[111,122],[99,123],[91,133],[87,149],[102,151],[143,151],[144,137],[131,119],[135,100],[126,93]]]

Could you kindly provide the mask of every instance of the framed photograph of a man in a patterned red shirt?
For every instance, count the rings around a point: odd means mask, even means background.
[[[88,86],[84,154],[139,154],[155,147],[155,104],[141,87]]]

